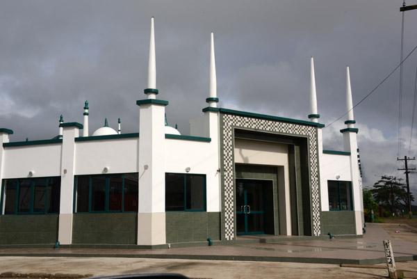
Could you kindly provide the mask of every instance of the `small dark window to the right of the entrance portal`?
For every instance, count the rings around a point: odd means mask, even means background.
[[[348,181],[327,182],[330,210],[352,210],[352,183]]]

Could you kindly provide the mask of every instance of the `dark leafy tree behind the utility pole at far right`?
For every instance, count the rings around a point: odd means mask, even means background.
[[[398,207],[407,207],[407,186],[402,179],[382,175],[381,179],[373,185],[373,197],[387,209],[395,210]],[[410,194],[411,201],[414,197]]]

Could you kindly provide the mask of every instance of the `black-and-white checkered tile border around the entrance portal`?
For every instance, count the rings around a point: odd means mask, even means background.
[[[250,118],[247,116],[224,114],[222,118],[221,143],[223,145],[223,185],[224,185],[224,238],[233,240],[234,231],[234,170],[233,170],[233,129],[250,128],[262,131],[273,131],[293,136],[309,138],[309,157],[311,173],[311,203],[313,212],[313,235],[318,237],[320,229],[320,193],[318,180],[318,146],[317,128],[292,123]]]

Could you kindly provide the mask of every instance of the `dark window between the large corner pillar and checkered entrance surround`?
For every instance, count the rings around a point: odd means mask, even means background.
[[[206,211],[206,175],[165,174],[165,212]]]

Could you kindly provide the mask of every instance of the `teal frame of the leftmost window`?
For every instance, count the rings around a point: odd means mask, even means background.
[[[52,191],[51,188],[49,187],[49,181],[51,179],[58,179],[60,180],[59,176],[56,177],[20,177],[20,178],[6,178],[1,180],[1,202],[0,202],[0,215],[3,216],[11,216],[11,215],[54,215],[54,214],[59,214],[60,211],[60,187],[59,187],[59,195],[58,195],[58,212],[52,212],[49,213],[48,212],[48,193],[49,191]],[[35,212],[34,209],[34,205],[35,205],[35,180],[42,180],[44,179],[46,181],[45,183],[45,201],[44,201],[44,210],[43,212]],[[15,212],[13,212],[13,214],[6,214],[6,200],[4,200],[5,196],[4,193],[6,192],[6,184],[5,182],[7,180],[13,181],[15,180],[16,183],[16,196],[15,196]],[[29,211],[28,212],[19,212],[19,193],[20,193],[20,182],[19,180],[30,180],[31,182],[31,198],[30,198],[30,205],[29,205]],[[60,182],[59,182],[60,185]],[[51,195],[51,198],[53,196]],[[7,196],[6,196],[7,198]],[[4,205],[4,207],[3,207]]]

